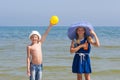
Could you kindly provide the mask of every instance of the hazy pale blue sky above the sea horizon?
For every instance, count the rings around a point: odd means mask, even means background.
[[[120,0],[0,0],[0,26],[47,26],[52,15],[59,26],[120,26]]]

